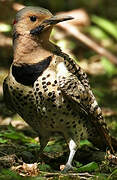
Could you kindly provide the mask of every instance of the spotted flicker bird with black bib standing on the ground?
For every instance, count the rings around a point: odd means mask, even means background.
[[[112,153],[116,145],[87,74],[49,39],[57,23],[72,19],[41,7],[19,10],[13,25],[13,62],[3,83],[7,107],[37,132],[40,154],[51,136],[65,138],[70,153],[64,172],[73,169],[81,139]]]

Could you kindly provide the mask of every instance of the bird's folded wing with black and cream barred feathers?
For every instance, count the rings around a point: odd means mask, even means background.
[[[111,136],[102,116],[102,111],[91,91],[86,73],[65,53],[59,53],[64,58],[64,64],[70,74],[67,77],[59,77],[59,86],[61,91],[70,99],[77,102],[82,111],[84,111],[90,121],[97,129],[106,144],[114,152],[111,145]],[[65,73],[64,73],[65,74]]]

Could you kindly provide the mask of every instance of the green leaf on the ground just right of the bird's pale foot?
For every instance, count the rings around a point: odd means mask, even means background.
[[[77,169],[78,172],[93,172],[99,169],[99,166],[96,162],[88,163],[80,168]]]

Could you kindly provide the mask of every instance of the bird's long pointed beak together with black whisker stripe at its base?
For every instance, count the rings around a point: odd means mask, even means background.
[[[30,34],[32,35],[38,35],[40,34],[45,28],[49,27],[49,26],[53,26],[59,22],[63,22],[63,21],[67,21],[67,20],[72,20],[74,19],[71,16],[64,16],[64,15],[56,15],[56,16],[52,16],[49,19],[44,20],[39,26],[37,26],[36,28],[32,29],[30,31]]]

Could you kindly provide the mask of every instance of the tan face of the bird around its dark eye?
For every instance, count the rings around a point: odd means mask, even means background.
[[[30,34],[30,31],[38,27],[46,19],[49,19],[51,15],[26,12],[18,21],[14,24],[14,28],[19,34]]]

